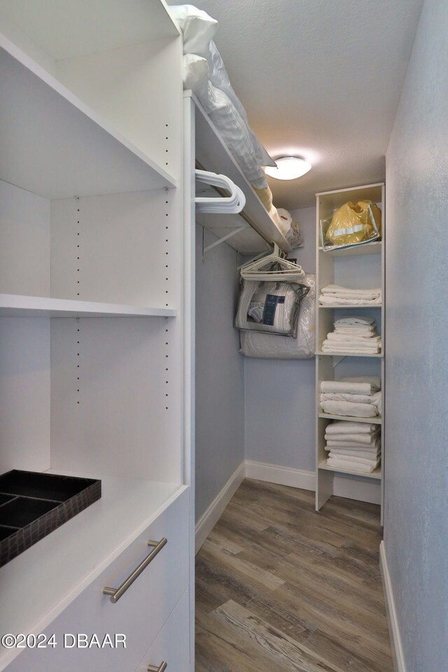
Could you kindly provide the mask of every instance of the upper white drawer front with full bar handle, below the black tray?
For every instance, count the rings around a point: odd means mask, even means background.
[[[188,489],[130,544],[45,630],[57,646],[24,650],[8,672],[133,672],[188,586]],[[151,552],[148,540],[168,542],[113,604],[104,587],[118,587]],[[88,553],[88,549],[85,549]],[[64,633],[126,636],[126,647],[64,647]],[[71,643],[71,638],[69,639]]]

